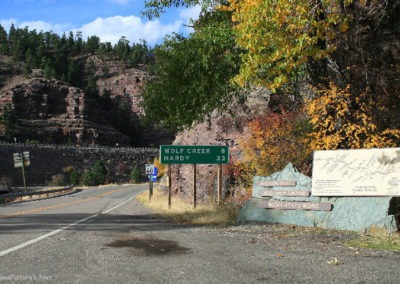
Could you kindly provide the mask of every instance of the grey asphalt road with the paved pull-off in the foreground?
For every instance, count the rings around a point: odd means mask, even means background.
[[[113,186],[0,206],[1,283],[399,283],[400,255],[354,234],[173,224]]]

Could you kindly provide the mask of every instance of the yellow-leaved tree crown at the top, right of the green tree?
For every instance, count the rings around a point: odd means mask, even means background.
[[[228,0],[220,9],[233,12],[242,55],[241,85],[254,83],[275,90],[301,72],[309,59],[335,50],[329,44],[348,29],[339,0]],[[349,1],[345,1],[349,2]]]

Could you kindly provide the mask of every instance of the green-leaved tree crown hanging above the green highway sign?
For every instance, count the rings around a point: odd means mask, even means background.
[[[146,120],[171,131],[224,110],[238,94],[229,80],[239,70],[239,50],[229,12],[205,12],[189,37],[174,34],[154,50],[154,80],[142,106]]]

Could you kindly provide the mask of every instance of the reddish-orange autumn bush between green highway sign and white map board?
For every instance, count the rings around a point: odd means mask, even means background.
[[[288,162],[309,174],[312,151],[306,134],[310,130],[305,116],[284,110],[249,122],[248,131],[239,140],[242,157],[231,158],[225,167],[231,195],[239,188],[251,192],[255,175],[269,176],[282,170]]]

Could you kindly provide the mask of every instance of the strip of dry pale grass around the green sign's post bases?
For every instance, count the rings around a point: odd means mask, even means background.
[[[168,208],[168,195],[156,188],[151,200],[148,191],[142,192],[136,199],[156,214],[181,224],[226,226],[234,224],[239,213],[237,208],[219,207],[213,204],[197,204],[196,208],[193,208],[193,204],[174,196],[171,208]]]

